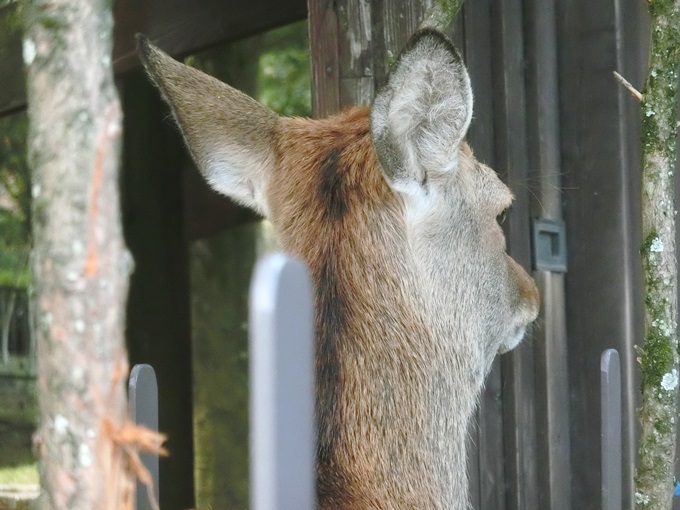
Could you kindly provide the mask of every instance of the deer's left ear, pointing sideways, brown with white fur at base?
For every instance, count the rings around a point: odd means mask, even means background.
[[[199,170],[218,192],[264,214],[277,115],[242,92],[172,59],[142,35],[138,52]]]

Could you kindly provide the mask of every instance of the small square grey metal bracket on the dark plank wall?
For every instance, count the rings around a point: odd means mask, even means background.
[[[563,221],[535,218],[531,228],[534,270],[567,272],[567,229]]]

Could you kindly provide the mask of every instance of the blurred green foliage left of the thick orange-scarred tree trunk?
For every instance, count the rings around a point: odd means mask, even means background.
[[[26,287],[31,193],[25,113],[0,119],[0,285]]]

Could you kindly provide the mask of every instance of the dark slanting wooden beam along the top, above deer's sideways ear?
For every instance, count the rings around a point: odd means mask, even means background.
[[[26,103],[21,35],[15,5],[0,8],[0,115]],[[139,67],[135,34],[143,32],[175,56],[233,41],[307,15],[305,0],[119,0],[114,7],[113,62],[116,74]]]

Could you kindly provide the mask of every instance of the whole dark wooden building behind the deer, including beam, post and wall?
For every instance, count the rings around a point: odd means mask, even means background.
[[[164,509],[192,507],[196,486],[222,491],[210,484],[228,475],[219,459],[203,466],[214,472],[205,478],[194,465],[200,421],[192,398],[204,368],[192,365],[192,336],[216,326],[200,315],[191,279],[203,271],[209,280],[210,267],[220,264],[219,250],[202,240],[254,218],[212,194],[191,169],[165,107],[139,71],[134,34],[144,32],[183,57],[308,18],[313,108],[324,116],[370,103],[429,3],[116,2],[114,62],[126,117],[123,220],[136,261],[128,343],[131,361],[150,363],[158,373],[161,428],[170,433],[172,451],[161,468]],[[633,346],[642,338],[639,109],[612,72],[641,86],[645,9],[633,0],[468,0],[450,27],[475,93],[470,143],[515,191],[509,250],[534,269],[543,300],[533,338],[494,363],[471,429],[476,509],[600,508],[599,367],[610,347],[623,366],[624,508],[634,506]],[[13,12],[13,4],[0,8],[0,26]],[[0,115],[9,115],[25,106],[21,38],[15,31],[0,39]],[[566,225],[566,272],[541,269],[532,259],[537,219]],[[252,258],[257,235],[236,235]],[[192,266],[197,249],[210,252],[212,266]],[[236,272],[244,274],[246,266]],[[210,287],[217,302],[222,282],[215,278]],[[223,370],[219,359],[213,364],[210,373]]]

